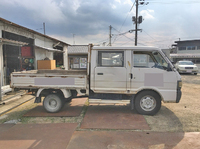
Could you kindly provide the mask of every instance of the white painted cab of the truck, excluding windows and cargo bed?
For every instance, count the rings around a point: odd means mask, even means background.
[[[99,51],[122,51],[124,53],[124,66],[98,66]],[[170,64],[172,71],[151,67],[134,67],[134,51],[159,52],[166,62]],[[177,81],[181,80],[181,76],[160,49],[153,47],[95,47],[91,53],[90,88],[95,93],[132,95],[142,90],[150,89],[160,94],[164,102],[176,102]],[[130,74],[132,74],[132,79]]]

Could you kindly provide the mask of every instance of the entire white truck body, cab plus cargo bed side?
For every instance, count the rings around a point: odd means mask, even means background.
[[[116,54],[111,56],[111,58],[113,57],[111,61],[108,57],[111,55],[109,52]],[[165,69],[164,67],[163,69],[153,67],[153,62],[149,61],[148,57],[144,59],[145,53],[148,56],[148,53],[151,52],[155,54],[155,57],[160,55],[163,58],[163,65],[168,64],[171,70],[165,70],[167,67]],[[104,56],[101,63],[105,63],[105,67],[103,64],[99,64],[100,54]],[[137,60],[136,67],[134,56],[137,54],[143,59]],[[121,58],[119,58],[120,56]],[[66,70],[62,70],[62,73],[52,70],[48,74],[12,73],[11,86],[14,88],[37,88],[40,91],[45,88],[62,89],[62,92],[67,91],[66,96],[69,96],[71,89],[75,89],[79,93],[81,89],[86,90],[86,95],[89,95],[89,90],[92,90],[94,93],[130,96],[142,90],[153,90],[161,96],[164,102],[176,102],[177,82],[181,81],[181,76],[160,49],[154,47],[93,47],[89,49],[88,57],[88,70],[85,74],[79,74],[77,71],[74,75],[69,75],[70,71]],[[109,66],[107,63],[113,63],[116,67]]]

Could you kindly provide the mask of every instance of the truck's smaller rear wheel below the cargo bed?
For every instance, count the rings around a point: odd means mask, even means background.
[[[63,107],[63,100],[57,94],[49,94],[44,98],[43,107],[47,112],[56,113]]]

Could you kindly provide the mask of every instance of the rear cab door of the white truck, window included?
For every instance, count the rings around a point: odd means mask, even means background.
[[[124,54],[124,51],[98,51],[98,64],[94,70],[96,92],[126,92],[127,71]]]

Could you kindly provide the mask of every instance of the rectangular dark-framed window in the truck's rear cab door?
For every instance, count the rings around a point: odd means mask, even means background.
[[[100,67],[124,67],[123,51],[99,51],[98,66]]]

